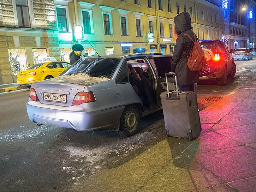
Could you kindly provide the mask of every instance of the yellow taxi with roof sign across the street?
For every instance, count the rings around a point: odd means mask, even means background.
[[[62,71],[70,66],[70,63],[65,61],[44,61],[33,65],[24,71],[17,73],[18,85],[31,85],[36,81],[57,77]]]

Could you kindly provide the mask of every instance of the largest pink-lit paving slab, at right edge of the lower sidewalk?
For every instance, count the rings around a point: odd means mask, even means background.
[[[197,154],[195,161],[227,182],[256,176],[256,149],[246,145]]]

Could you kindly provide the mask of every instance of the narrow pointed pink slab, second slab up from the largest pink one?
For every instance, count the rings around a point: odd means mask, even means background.
[[[254,122],[246,121],[243,119],[239,119],[237,117],[226,115],[218,123],[216,123],[213,127],[211,127],[210,130],[219,130],[219,129],[237,127],[237,126],[248,125],[253,123]]]

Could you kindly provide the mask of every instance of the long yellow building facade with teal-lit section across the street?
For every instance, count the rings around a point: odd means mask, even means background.
[[[69,61],[71,47],[89,56],[161,52],[172,54],[173,17],[191,15],[200,39],[222,38],[222,8],[206,0],[2,0],[0,84],[16,81],[19,70],[43,57]],[[219,3],[220,4],[220,3]],[[81,32],[82,31],[82,32]],[[91,45],[90,45],[90,43]]]

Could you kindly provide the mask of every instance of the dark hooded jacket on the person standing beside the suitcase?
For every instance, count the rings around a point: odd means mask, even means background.
[[[174,17],[175,31],[179,35],[173,51],[171,72],[177,74],[178,85],[189,85],[199,81],[198,72],[192,71],[187,66],[187,55],[190,55],[193,48],[193,41],[185,35],[189,35],[192,39],[196,36],[191,30],[191,18],[188,12],[182,12]],[[196,37],[196,41],[198,41]]]

